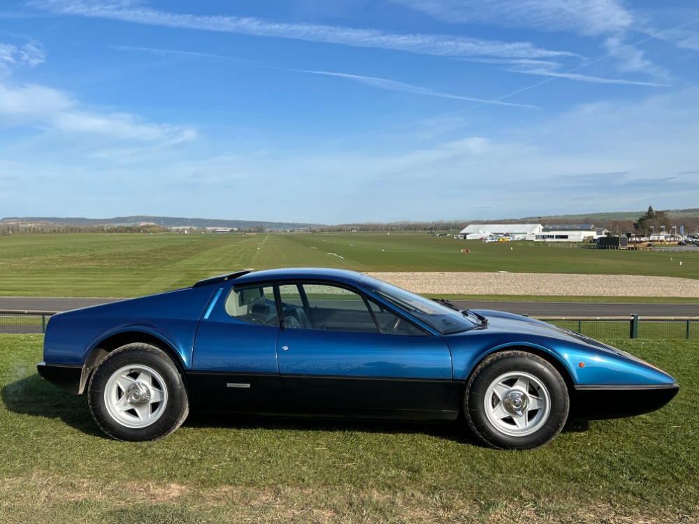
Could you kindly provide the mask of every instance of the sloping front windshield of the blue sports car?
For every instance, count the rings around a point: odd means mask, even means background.
[[[457,333],[478,326],[475,321],[463,316],[461,312],[454,311],[429,298],[415,295],[415,293],[410,293],[410,291],[405,291],[405,289],[387,284],[373,277],[362,275],[359,283],[369,291],[373,291],[378,296],[400,307],[401,310],[410,313],[428,326],[439,331],[442,335],[449,335],[449,333]]]

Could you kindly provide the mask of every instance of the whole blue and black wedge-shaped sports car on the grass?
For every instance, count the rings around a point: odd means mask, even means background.
[[[52,316],[41,376],[87,393],[107,435],[160,439],[189,410],[452,421],[533,449],[569,417],[647,413],[675,379],[524,316],[470,311],[361,273],[240,271]]]

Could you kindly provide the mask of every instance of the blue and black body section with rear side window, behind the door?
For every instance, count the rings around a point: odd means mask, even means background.
[[[228,287],[217,291],[196,331],[190,403],[202,411],[282,412],[290,403],[277,365],[274,287]]]

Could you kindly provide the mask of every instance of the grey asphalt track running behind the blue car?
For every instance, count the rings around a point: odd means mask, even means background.
[[[79,307],[123,300],[120,298],[41,298],[0,297],[0,311],[59,312]],[[576,303],[576,302],[487,302],[482,300],[454,300],[471,310],[501,310],[529,316],[699,316],[696,304],[642,304],[642,303]]]

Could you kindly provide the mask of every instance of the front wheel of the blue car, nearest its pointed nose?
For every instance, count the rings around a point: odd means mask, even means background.
[[[471,430],[498,449],[548,444],[563,429],[569,409],[561,374],[526,351],[503,351],[484,358],[471,374],[463,400]]]

